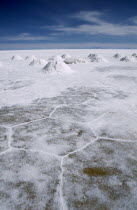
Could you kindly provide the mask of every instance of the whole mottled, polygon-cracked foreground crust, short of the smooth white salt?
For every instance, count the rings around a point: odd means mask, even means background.
[[[131,103],[127,92],[81,87],[1,108],[0,209],[136,209]]]

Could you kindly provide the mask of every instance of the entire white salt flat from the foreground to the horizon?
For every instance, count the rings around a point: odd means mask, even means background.
[[[0,209],[136,209],[133,53],[0,52]]]

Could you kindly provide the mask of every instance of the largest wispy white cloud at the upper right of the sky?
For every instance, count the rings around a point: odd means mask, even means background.
[[[69,18],[75,20],[82,20],[86,23],[79,24],[75,27],[71,26],[45,26],[41,28],[48,28],[49,30],[54,30],[56,32],[64,33],[78,33],[78,34],[103,34],[103,35],[113,35],[113,36],[124,36],[124,35],[137,35],[137,16],[130,18],[131,24],[115,24],[103,19],[104,13],[97,11],[82,11],[73,15]],[[129,20],[127,20],[129,22]]]

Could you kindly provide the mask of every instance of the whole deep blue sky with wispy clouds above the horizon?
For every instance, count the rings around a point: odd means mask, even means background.
[[[133,0],[0,0],[0,50],[137,48]]]

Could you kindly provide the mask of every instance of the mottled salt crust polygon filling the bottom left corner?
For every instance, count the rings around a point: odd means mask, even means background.
[[[1,209],[59,209],[60,161],[23,150],[0,155]]]

